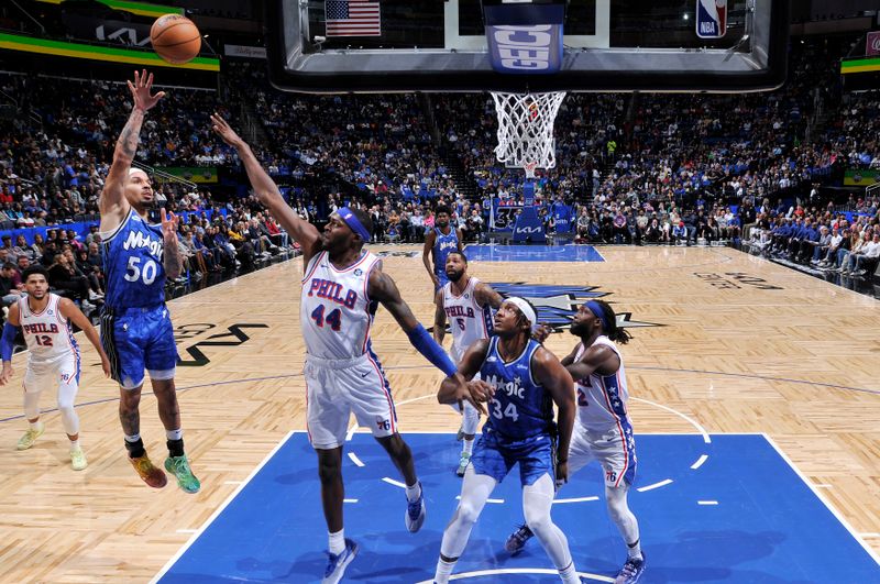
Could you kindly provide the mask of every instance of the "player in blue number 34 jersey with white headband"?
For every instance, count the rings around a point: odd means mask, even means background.
[[[574,425],[573,381],[559,360],[531,339],[535,309],[509,297],[495,313],[494,334],[475,342],[459,364],[473,379],[462,392],[444,381],[441,404],[486,401],[488,415],[464,473],[459,503],[443,531],[435,582],[446,584],[495,485],[519,463],[522,511],[564,583],[580,583],[564,533],[550,518],[556,487],[568,480]],[[559,409],[553,421],[553,404]]]

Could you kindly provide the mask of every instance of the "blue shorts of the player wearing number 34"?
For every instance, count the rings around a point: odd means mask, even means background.
[[[508,440],[491,428],[483,428],[471,455],[474,472],[501,483],[516,463],[519,463],[519,482],[522,486],[534,484],[544,473],[556,480],[556,440],[547,433],[524,440]]]

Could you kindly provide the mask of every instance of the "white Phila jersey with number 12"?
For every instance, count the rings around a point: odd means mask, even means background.
[[[33,312],[26,296],[19,299],[19,320],[24,342],[28,343],[28,365],[31,367],[51,365],[70,355],[79,361],[79,346],[67,319],[58,310],[59,301],[59,296],[50,294],[46,308],[42,312]]]

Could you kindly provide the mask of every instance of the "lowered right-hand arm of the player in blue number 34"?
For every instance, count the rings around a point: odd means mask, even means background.
[[[569,444],[571,444],[571,432],[574,428],[574,416],[578,407],[574,403],[574,381],[562,366],[562,363],[544,348],[535,351],[532,359],[532,371],[538,383],[553,398],[553,403],[559,410],[557,414],[557,428],[559,431],[559,444],[557,447],[557,486],[561,486],[569,480]]]

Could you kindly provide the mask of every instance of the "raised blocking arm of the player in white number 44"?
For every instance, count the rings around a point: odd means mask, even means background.
[[[320,251],[320,233],[318,228],[304,221],[282,197],[278,185],[266,174],[256,159],[251,146],[235,133],[229,123],[218,113],[211,115],[211,128],[223,139],[223,142],[235,148],[248,173],[251,186],[260,202],[266,206],[278,223],[299,243],[306,263]]]

